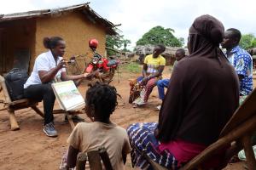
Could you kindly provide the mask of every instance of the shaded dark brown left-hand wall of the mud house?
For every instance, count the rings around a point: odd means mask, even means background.
[[[35,20],[12,20],[0,23],[1,41],[1,69],[2,73],[8,72],[16,62],[23,62],[22,51],[35,54]],[[18,55],[17,55],[18,54]],[[21,54],[21,55],[20,55]],[[23,53],[24,54],[24,53]],[[16,58],[15,58],[16,55]],[[18,59],[18,60],[17,60]]]

